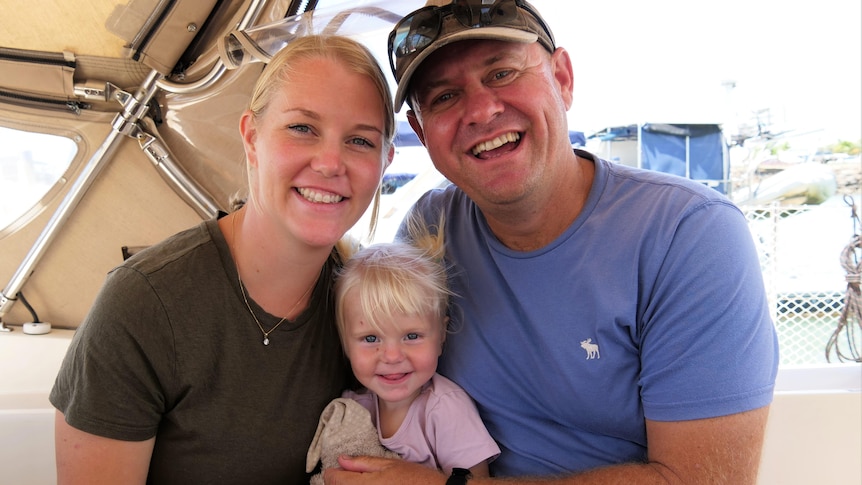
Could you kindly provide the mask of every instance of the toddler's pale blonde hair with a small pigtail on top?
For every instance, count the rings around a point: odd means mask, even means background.
[[[380,331],[381,321],[399,314],[430,315],[446,335],[450,297],[443,256],[443,220],[432,233],[411,219],[411,242],[377,243],[344,255],[335,280],[335,319],[344,345],[347,322],[344,302],[356,291],[362,314]],[[345,347],[346,348],[346,347]]]

